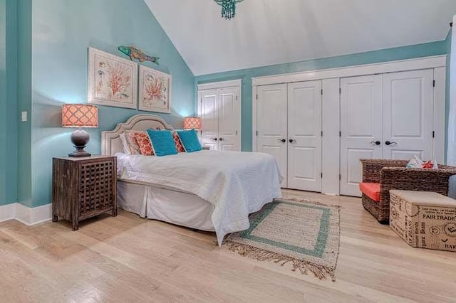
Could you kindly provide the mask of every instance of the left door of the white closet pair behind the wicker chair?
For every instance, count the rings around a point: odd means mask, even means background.
[[[341,79],[341,194],[361,196],[359,159],[382,159],[382,75]]]

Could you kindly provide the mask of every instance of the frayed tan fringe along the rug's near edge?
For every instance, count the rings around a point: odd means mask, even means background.
[[[318,279],[326,280],[327,277],[331,277],[331,280],[336,281],[336,276],[334,275],[334,269],[318,265],[313,262],[298,260],[294,257],[288,257],[286,255],[281,255],[277,252],[271,252],[269,250],[263,250],[261,248],[256,248],[252,245],[242,244],[232,242],[230,240],[224,240],[222,245],[227,245],[227,248],[233,252],[239,253],[243,257],[249,257],[254,260],[259,261],[274,261],[276,263],[281,263],[281,266],[286,265],[288,262],[292,262],[291,270],[299,270],[301,274],[307,275],[307,272],[312,272]]]

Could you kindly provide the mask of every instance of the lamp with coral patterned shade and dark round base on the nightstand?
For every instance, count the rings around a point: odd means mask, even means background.
[[[68,156],[90,156],[84,150],[90,140],[88,132],[83,127],[98,127],[98,107],[88,104],[65,104],[62,107],[62,127],[78,127],[71,134],[76,151]]]

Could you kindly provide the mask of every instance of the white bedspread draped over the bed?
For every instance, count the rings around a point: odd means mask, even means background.
[[[249,228],[249,211],[281,196],[284,176],[273,156],[239,151],[197,151],[171,156],[118,154],[120,179],[193,193],[214,206],[219,245]]]

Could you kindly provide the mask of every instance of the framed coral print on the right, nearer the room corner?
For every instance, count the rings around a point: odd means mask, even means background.
[[[140,110],[171,112],[172,76],[140,65]]]

